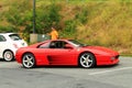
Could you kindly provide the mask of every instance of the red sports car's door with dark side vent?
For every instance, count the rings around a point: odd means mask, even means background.
[[[62,44],[58,42],[56,44]],[[77,65],[76,50],[75,48],[48,48],[47,59],[50,65]]]

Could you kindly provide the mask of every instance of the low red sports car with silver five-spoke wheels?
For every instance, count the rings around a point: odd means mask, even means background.
[[[119,53],[101,46],[88,46],[75,40],[45,41],[16,51],[15,59],[25,68],[40,65],[69,65],[85,68],[119,63]]]

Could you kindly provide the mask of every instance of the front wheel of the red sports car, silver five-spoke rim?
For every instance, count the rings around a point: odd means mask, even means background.
[[[79,56],[79,65],[84,68],[90,68],[96,65],[96,58],[91,53],[82,53]]]

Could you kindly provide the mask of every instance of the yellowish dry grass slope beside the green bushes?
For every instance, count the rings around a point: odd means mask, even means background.
[[[9,1],[15,0],[0,0],[0,4],[4,4],[3,10],[8,7]],[[36,7],[38,7],[50,4],[51,0],[36,1]],[[63,35],[63,37],[73,37],[87,44],[111,47],[122,54],[132,54],[132,2],[121,1],[55,0],[56,4],[62,7],[61,25],[65,29],[65,21],[76,21],[76,31],[72,36]],[[80,14],[84,10],[88,11],[85,16],[87,21],[81,23],[75,15]],[[65,32],[61,31],[61,34],[65,34]]]

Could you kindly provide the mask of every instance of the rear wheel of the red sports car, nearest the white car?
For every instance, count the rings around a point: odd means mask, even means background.
[[[35,67],[35,57],[31,53],[26,53],[22,57],[22,65],[25,68],[33,68]]]

